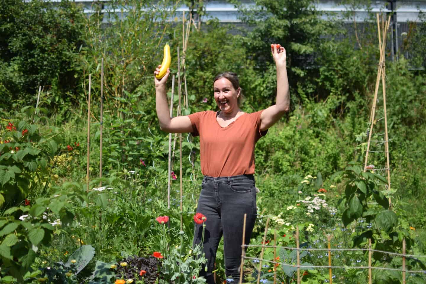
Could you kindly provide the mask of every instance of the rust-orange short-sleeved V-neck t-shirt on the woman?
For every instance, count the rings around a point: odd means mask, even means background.
[[[200,136],[203,175],[227,177],[254,174],[254,146],[268,130],[260,131],[262,111],[245,113],[226,127],[216,121],[217,112],[196,112],[188,117],[193,136]]]

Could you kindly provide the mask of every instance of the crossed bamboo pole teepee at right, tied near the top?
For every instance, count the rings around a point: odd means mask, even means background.
[[[370,151],[370,145],[371,145],[371,135],[373,132],[373,126],[377,122],[374,120],[375,114],[376,114],[376,106],[377,106],[377,94],[379,91],[380,86],[380,80],[382,81],[382,90],[383,90],[383,112],[384,112],[384,119],[385,119],[385,138],[384,138],[384,144],[385,144],[385,153],[386,153],[386,171],[387,171],[387,181],[388,181],[388,189],[391,188],[391,174],[390,174],[390,162],[389,162],[389,136],[388,136],[388,120],[386,115],[386,64],[385,64],[385,48],[386,48],[386,35],[389,29],[389,23],[391,21],[391,16],[388,17],[388,20],[386,20],[386,23],[383,23],[382,20],[382,29],[380,30],[380,20],[379,20],[379,14],[377,14],[377,32],[378,32],[378,38],[379,38],[379,48],[380,48],[380,60],[379,60],[379,66],[377,67],[377,78],[376,78],[376,86],[374,89],[374,98],[373,98],[373,105],[371,107],[370,112],[370,129],[368,132],[368,142],[367,142],[367,151],[366,151],[366,158],[364,162],[364,171],[367,170],[367,164],[368,164],[368,153]],[[384,27],[383,27],[384,26]],[[383,32],[383,33],[382,33]],[[389,208],[392,208],[391,198],[389,196]]]

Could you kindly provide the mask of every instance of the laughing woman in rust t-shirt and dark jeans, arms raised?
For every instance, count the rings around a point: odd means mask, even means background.
[[[250,241],[256,220],[256,187],[254,147],[290,105],[285,49],[271,45],[276,64],[276,104],[265,110],[245,113],[240,109],[242,89],[235,73],[216,76],[213,82],[214,99],[218,112],[196,112],[170,118],[166,95],[167,74],[155,80],[156,109],[161,130],[191,132],[200,136],[201,172],[204,175],[197,212],[207,217],[205,222],[204,252],[207,271],[200,275],[213,284],[212,275],[216,250],[224,237],[227,283],[239,281],[244,214],[247,214],[245,244]],[[159,72],[158,66],[154,75]],[[201,242],[201,226],[197,225],[194,244]]]

